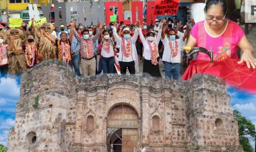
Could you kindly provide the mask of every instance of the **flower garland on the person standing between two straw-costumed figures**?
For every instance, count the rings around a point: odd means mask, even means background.
[[[33,67],[34,59],[36,58],[35,57],[36,48],[34,45],[35,45],[34,43],[32,43],[32,46],[30,44],[26,44],[25,59],[26,59],[26,63],[28,65],[28,67]]]

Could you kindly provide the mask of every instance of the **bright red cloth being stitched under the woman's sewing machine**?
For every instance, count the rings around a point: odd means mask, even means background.
[[[189,67],[183,74],[183,79],[187,80],[196,73],[215,75],[231,85],[250,93],[256,93],[256,69],[249,69],[246,63],[239,65],[238,59],[225,59],[214,61],[191,61]]]

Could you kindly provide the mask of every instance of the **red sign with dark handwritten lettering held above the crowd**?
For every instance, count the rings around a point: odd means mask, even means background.
[[[178,9],[179,0],[156,0],[154,15],[175,15]]]

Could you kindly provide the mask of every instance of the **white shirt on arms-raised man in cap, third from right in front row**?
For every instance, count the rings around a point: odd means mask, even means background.
[[[119,48],[119,61],[123,61],[123,62],[131,62],[131,61],[136,61],[137,60],[137,50],[136,50],[136,46],[135,46],[135,42],[137,40],[138,37],[138,32],[137,29],[135,29],[135,33],[134,35],[131,37],[131,55],[126,57],[123,55],[123,50],[122,50],[122,46],[123,45],[127,45],[127,40],[125,40],[125,44],[122,43],[122,38],[117,34],[117,29],[114,27],[113,28],[113,35],[115,37],[115,40],[117,40],[117,44],[120,46]]]

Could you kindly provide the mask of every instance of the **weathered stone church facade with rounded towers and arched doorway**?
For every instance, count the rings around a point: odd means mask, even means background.
[[[76,79],[46,61],[20,89],[8,151],[243,151],[226,86],[209,75]]]

